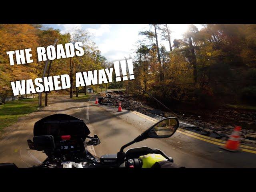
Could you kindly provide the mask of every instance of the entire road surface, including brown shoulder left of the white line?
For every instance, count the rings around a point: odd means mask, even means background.
[[[83,119],[92,135],[97,134],[101,140],[100,145],[94,146],[97,156],[116,153],[122,145],[157,122],[155,118],[139,112],[117,112],[112,106],[95,105],[94,97],[84,102],[71,100],[68,96],[50,96],[51,106],[23,117],[5,129],[5,134],[0,138],[0,162],[14,162],[19,167],[42,162],[46,156],[42,152],[28,150],[26,140],[33,137],[34,123],[51,114],[64,113]],[[220,149],[219,146],[223,144],[220,140],[179,128],[171,138],[148,139],[130,147],[158,148],[172,156],[174,162],[186,167],[256,167],[254,148],[242,147],[243,151],[232,153]]]

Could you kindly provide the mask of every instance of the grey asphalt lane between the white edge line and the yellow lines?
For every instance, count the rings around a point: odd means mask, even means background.
[[[92,100],[91,105],[94,104],[94,99]],[[117,112],[117,108],[112,106],[95,105],[89,108],[89,122],[102,142],[94,147],[97,155],[100,156],[116,153],[122,145],[136,138],[157,120],[138,112],[127,110]],[[254,161],[256,154],[242,151],[228,152],[220,149],[216,144],[197,139],[181,131],[178,129],[170,138],[147,139],[128,148],[139,146],[158,148],[174,158],[177,164],[191,168],[256,167]]]

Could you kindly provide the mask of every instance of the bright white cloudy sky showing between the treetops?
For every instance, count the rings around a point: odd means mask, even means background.
[[[201,24],[194,25],[198,30],[202,28]],[[148,24],[43,24],[43,26],[59,29],[62,34],[72,32],[75,28],[88,30],[102,55],[110,62],[134,56],[136,42],[145,38],[138,33],[150,30]],[[171,41],[182,38],[187,27],[188,24],[168,24],[169,30],[172,31]],[[160,35],[158,41],[159,46],[164,45],[166,50],[170,50],[169,43],[162,41]]]

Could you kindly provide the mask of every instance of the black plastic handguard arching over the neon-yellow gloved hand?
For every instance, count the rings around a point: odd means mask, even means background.
[[[164,152],[162,152],[159,149],[152,149],[149,147],[137,147],[137,148],[130,148],[125,152],[125,158],[126,159],[134,159],[139,158],[142,155],[147,155],[149,153],[155,153],[155,154],[161,154],[166,159],[168,159],[170,162],[173,162],[172,158],[169,158]]]

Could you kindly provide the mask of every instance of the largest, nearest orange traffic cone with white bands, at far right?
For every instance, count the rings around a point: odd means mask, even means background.
[[[238,146],[239,146],[239,143],[240,143],[239,132],[240,132],[241,128],[242,127],[240,127],[240,126],[236,126],[236,128],[232,132],[230,138],[228,139],[228,141],[226,143],[226,146],[222,146],[220,148],[222,148],[224,150],[231,151],[231,152],[238,151]]]

